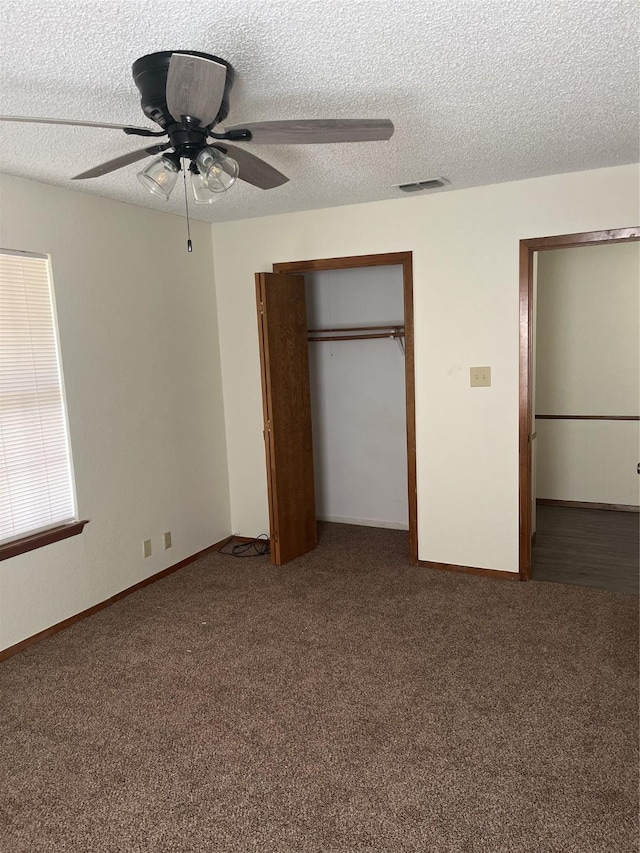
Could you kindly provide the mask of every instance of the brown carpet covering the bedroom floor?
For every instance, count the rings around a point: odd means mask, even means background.
[[[637,851],[637,599],[213,554],[0,665],[7,853]]]

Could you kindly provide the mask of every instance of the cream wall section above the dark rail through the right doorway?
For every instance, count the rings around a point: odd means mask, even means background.
[[[536,414],[637,415],[640,242],[538,253]]]

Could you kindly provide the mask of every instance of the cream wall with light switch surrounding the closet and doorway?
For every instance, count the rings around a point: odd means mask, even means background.
[[[637,224],[637,188],[621,166],[214,225],[233,529],[268,529],[254,272],[412,250],[419,557],[517,571],[518,241]]]

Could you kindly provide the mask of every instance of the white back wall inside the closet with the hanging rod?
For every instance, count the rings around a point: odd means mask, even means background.
[[[402,267],[305,275],[307,328],[402,325]],[[309,343],[316,515],[408,529],[404,356],[393,338]]]

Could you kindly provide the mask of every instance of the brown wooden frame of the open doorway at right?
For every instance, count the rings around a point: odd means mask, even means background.
[[[616,228],[610,231],[584,231],[554,237],[520,240],[520,402],[519,402],[519,507],[520,507],[520,580],[531,578],[531,420],[533,415],[533,256],[550,249],[573,249],[605,243],[627,243],[640,240],[640,227]]]

